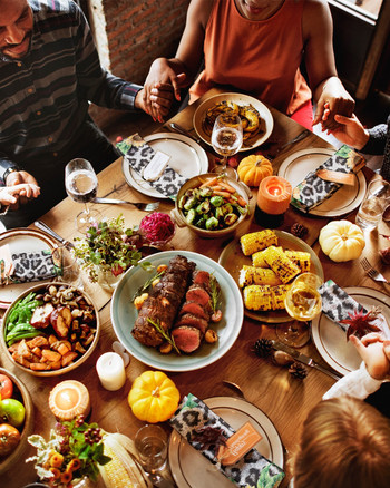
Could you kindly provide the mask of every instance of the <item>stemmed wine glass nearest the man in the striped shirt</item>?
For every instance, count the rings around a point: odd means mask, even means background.
[[[100,217],[97,209],[89,209],[87,203],[96,197],[98,180],[92,165],[87,159],[76,158],[65,168],[65,187],[67,194],[75,202],[82,202],[85,209],[76,217],[76,227],[79,232],[86,231]]]

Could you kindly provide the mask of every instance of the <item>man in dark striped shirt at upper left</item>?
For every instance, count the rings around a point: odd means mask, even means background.
[[[86,158],[99,172],[118,157],[88,115],[90,101],[147,110],[142,86],[101,68],[88,22],[74,1],[0,0],[0,187],[41,188],[39,198],[18,196],[1,217],[6,227],[16,227],[66,196],[70,159]],[[167,114],[172,88],[162,85],[155,95]]]

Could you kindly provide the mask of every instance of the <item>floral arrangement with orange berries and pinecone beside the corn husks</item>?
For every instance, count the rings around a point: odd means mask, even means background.
[[[35,461],[38,477],[50,487],[70,488],[81,479],[96,481],[99,465],[111,460],[104,455],[103,435],[97,423],[86,423],[79,416],[70,422],[57,422],[46,441],[41,436],[28,438],[37,448],[37,456],[26,462]]]

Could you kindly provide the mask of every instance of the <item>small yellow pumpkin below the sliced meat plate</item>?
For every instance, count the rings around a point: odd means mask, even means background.
[[[168,420],[178,407],[181,393],[162,371],[145,371],[137,377],[128,403],[139,420],[156,423]]]

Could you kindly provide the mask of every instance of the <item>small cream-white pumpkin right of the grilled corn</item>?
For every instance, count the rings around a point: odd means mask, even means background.
[[[362,230],[349,221],[326,224],[320,232],[319,242],[322,251],[338,263],[357,260],[365,246]]]

